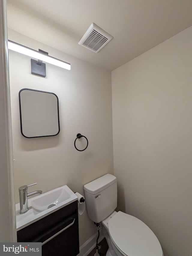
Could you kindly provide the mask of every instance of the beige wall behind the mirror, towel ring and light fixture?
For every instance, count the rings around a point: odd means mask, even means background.
[[[9,30],[9,39],[71,64],[64,70],[46,64],[46,78],[30,74],[30,57],[10,51],[15,196],[18,188],[37,182],[29,191],[43,192],[67,184],[83,194],[83,185],[113,173],[111,73]],[[64,42],[63,42],[64,43]],[[18,93],[22,88],[54,92],[59,99],[60,133],[28,139],[21,135]],[[74,148],[76,134],[88,138],[88,148]],[[77,143],[78,144],[78,143]],[[78,144],[80,147],[80,145]],[[96,229],[86,211],[79,216],[80,245]]]

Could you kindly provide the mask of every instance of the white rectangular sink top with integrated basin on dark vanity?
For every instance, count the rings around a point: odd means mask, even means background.
[[[49,215],[52,212],[77,200],[76,194],[67,185],[28,199],[29,211],[20,214],[19,203],[16,204],[17,230]]]

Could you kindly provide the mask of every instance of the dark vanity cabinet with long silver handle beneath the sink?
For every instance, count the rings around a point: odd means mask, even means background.
[[[17,242],[41,242],[42,256],[79,253],[77,200],[17,231]]]

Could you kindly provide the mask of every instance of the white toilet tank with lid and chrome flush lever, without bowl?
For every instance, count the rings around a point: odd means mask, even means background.
[[[96,223],[104,220],[117,207],[117,179],[112,174],[84,185],[88,216]]]

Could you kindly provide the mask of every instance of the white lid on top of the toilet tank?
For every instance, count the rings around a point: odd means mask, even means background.
[[[104,176],[95,179],[84,185],[84,190],[89,194],[95,195],[109,187],[117,181],[117,178],[112,174],[105,174]]]

